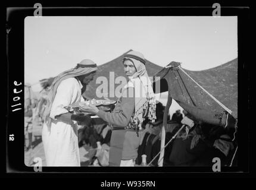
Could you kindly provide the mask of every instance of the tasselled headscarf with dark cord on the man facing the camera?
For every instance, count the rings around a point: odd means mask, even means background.
[[[141,126],[145,117],[154,122],[156,119],[155,94],[146,72],[145,58],[142,53],[131,51],[124,55],[123,62],[127,59],[132,61],[136,68],[135,74],[129,78],[135,88],[135,115],[132,118],[132,122]]]

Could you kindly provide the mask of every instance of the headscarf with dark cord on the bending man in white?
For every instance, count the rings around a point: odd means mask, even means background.
[[[64,81],[71,77],[78,77],[80,75],[90,74],[97,70],[97,65],[90,59],[83,59],[75,68],[68,69],[67,71],[61,72],[57,77],[54,78],[54,81],[51,84],[48,96],[48,103],[43,114],[45,121],[48,120],[49,114],[51,112],[52,102],[54,102],[55,94],[57,92],[58,85],[61,81]]]

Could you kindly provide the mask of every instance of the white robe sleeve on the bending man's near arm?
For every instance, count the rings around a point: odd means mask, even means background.
[[[64,106],[71,105],[74,97],[78,94],[76,81],[72,78],[64,80],[57,88],[57,93],[52,103],[50,118],[55,119],[55,116],[68,113],[68,110]]]

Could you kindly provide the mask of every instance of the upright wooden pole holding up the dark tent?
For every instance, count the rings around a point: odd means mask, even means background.
[[[167,126],[167,116],[169,112],[169,108],[171,106],[172,98],[168,94],[168,100],[166,104],[166,108],[164,109],[164,118],[163,118],[163,126],[162,126],[162,134],[161,134],[161,153],[158,159],[158,166],[163,167],[164,162],[164,145],[166,144],[166,126]]]

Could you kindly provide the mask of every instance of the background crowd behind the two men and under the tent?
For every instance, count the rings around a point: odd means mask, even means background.
[[[42,124],[43,119],[40,113],[45,109],[46,96],[48,88],[40,91],[39,99],[33,96],[30,85],[25,86],[26,94],[30,94],[25,98],[25,151],[32,149],[32,129],[33,120],[38,119]],[[163,126],[164,106],[157,103],[157,121],[149,122],[144,127],[143,137],[138,148],[138,157],[136,166],[142,164],[142,155],[146,155],[146,163],[158,154],[161,147],[161,127]],[[182,126],[182,119],[189,116],[186,110],[183,114],[180,110],[176,110],[171,116],[168,115],[166,128],[166,143],[173,137],[178,129]],[[164,166],[211,166],[212,158],[219,157],[223,165],[228,165],[232,160],[234,147],[236,142],[231,141],[232,134],[229,135],[223,127],[202,124],[193,121],[195,125],[186,132],[183,129],[179,135],[165,148]],[[93,122],[86,126],[80,126],[78,139],[79,147],[86,148],[88,153],[86,166],[108,166],[108,157],[111,139],[111,125],[94,124]],[[157,158],[152,162],[151,166],[158,166]]]

